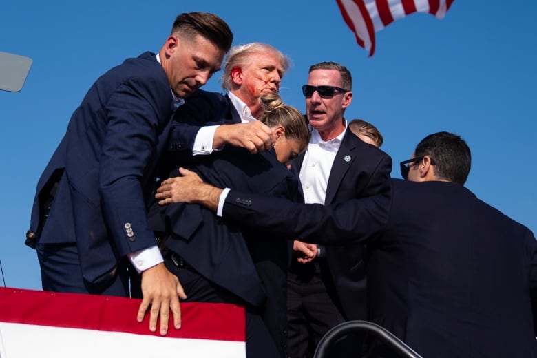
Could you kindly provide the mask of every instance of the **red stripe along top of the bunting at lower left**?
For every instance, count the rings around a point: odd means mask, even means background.
[[[0,322],[160,336],[149,331],[149,315],[136,322],[140,303],[123,297],[0,287]],[[166,337],[222,341],[246,337],[244,308],[232,304],[182,303],[181,321],[176,330],[170,317]]]

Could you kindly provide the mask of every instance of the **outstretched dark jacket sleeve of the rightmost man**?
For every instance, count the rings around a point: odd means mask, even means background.
[[[338,204],[301,204],[231,190],[223,216],[247,227],[286,235],[316,244],[364,242],[383,230],[388,222],[391,182],[383,182],[379,193]]]

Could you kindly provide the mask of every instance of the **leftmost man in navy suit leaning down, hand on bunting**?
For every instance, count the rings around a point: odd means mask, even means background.
[[[142,273],[141,322],[180,327],[177,277],[162,263],[147,222],[158,158],[173,111],[220,70],[233,35],[220,17],[180,14],[160,52],[112,68],[87,92],[37,184],[26,243],[45,291],[129,297]]]

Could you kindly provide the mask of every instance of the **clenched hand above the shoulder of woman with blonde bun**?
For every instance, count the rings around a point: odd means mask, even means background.
[[[274,143],[272,129],[260,120],[253,120],[248,123],[220,125],[214,134],[213,148],[229,144],[246,148],[251,154],[256,154],[259,151],[269,151]]]

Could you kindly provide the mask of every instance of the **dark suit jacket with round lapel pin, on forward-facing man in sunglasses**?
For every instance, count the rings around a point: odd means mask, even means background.
[[[295,161],[298,173],[303,160],[304,154]],[[390,156],[362,142],[347,128],[330,169],[325,205],[372,196],[388,190],[391,170]],[[344,317],[348,320],[366,319],[366,268],[361,260],[363,246],[349,243],[339,247],[328,246],[325,249]]]

